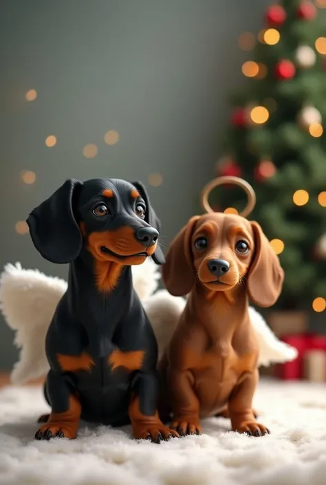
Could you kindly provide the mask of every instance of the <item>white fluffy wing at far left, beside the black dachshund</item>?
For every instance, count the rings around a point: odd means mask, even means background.
[[[20,349],[10,376],[14,384],[47,373],[45,335],[66,290],[67,283],[62,279],[47,277],[38,270],[23,270],[19,263],[5,266],[0,279],[1,311],[15,331],[14,344]]]

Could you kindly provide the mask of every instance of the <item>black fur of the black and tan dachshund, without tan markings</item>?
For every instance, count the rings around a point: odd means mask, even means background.
[[[133,200],[137,188],[140,197]],[[113,197],[103,197],[111,189]],[[103,202],[109,215],[97,217],[93,208]],[[135,214],[135,204],[146,206],[144,219]],[[142,304],[132,284],[131,266],[123,266],[116,288],[100,292],[94,274],[94,256],[83,244],[80,223],[86,237],[91,233],[118,230],[135,231],[152,226],[160,230],[144,186],[123,180],[95,179],[87,182],[67,180],[28,217],[30,235],[36,249],[53,263],[70,263],[68,289],[58,303],[46,337],[50,372],[45,397],[52,412],[67,411],[69,396],[78,396],[81,418],[91,422],[118,425],[129,421],[131,393],[138,396],[144,415],[153,416],[157,405],[157,343]],[[148,248],[144,248],[146,250]],[[164,263],[160,246],[153,254],[155,263]],[[109,356],[144,351],[141,369],[114,371]],[[78,357],[87,353],[94,362],[90,369],[65,371],[58,354]],[[52,436],[50,436],[52,437]],[[47,438],[36,433],[36,438]]]

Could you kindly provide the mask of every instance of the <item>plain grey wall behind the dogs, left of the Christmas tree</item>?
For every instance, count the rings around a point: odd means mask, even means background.
[[[239,34],[257,32],[269,0],[2,0],[0,267],[65,277],[36,252],[24,220],[68,177],[142,180],[166,243],[199,210],[213,177],[228,93],[243,83]],[[25,101],[36,89],[37,98]],[[117,144],[105,144],[106,131]],[[48,135],[57,137],[53,148]],[[85,158],[87,143],[98,146]],[[20,173],[31,170],[28,185]],[[161,173],[160,187],[148,184]],[[0,320],[0,369],[17,358]]]

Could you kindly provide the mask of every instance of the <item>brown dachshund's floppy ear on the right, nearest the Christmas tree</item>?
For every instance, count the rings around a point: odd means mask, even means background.
[[[284,271],[270,241],[257,222],[251,222],[255,251],[248,272],[248,293],[252,302],[260,307],[274,305],[281,294]]]

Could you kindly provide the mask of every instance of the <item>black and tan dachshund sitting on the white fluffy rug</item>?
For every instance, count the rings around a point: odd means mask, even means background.
[[[52,412],[35,438],[76,438],[80,419],[131,422],[134,438],[153,442],[177,436],[157,414],[157,343],[131,277],[147,257],[164,263],[144,186],[67,180],[27,222],[45,259],[70,263],[45,341]]]

